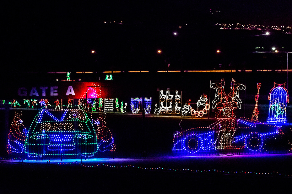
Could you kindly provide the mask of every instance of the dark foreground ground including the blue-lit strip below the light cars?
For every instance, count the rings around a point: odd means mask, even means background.
[[[291,154],[83,160],[86,167],[78,159],[78,163],[68,164],[74,161],[50,161],[50,164],[0,161],[1,190],[12,193],[282,192],[289,191],[292,176]],[[87,167],[97,164],[101,165]],[[130,166],[121,167],[127,165]]]

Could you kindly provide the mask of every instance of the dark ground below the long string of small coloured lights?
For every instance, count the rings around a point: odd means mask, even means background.
[[[291,178],[77,164],[0,163],[1,193],[188,193],[288,191]],[[287,190],[288,188],[288,190]]]

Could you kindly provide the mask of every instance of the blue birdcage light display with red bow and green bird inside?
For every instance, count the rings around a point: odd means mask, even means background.
[[[276,87],[276,85],[278,85]],[[282,86],[283,85],[283,86]],[[286,123],[286,106],[289,102],[288,91],[284,84],[274,83],[274,87],[269,93],[268,100],[270,100],[269,123]]]

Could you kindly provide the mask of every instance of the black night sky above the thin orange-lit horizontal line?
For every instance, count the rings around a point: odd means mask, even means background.
[[[216,49],[229,53],[223,63],[241,63],[255,46],[250,35],[223,33],[215,23],[292,26],[288,0],[14,2],[1,7],[4,72],[159,70],[165,64],[173,70],[203,64],[214,69],[221,63]]]

